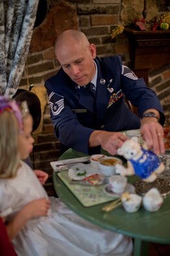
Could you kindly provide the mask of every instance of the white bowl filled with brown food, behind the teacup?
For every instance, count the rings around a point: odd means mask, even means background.
[[[115,174],[115,164],[122,164],[122,161],[117,157],[103,157],[98,161],[99,170],[107,177]]]

